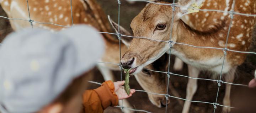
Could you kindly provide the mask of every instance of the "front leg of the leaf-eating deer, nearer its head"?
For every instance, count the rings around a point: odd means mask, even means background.
[[[188,65],[189,77],[198,78],[199,72],[200,71],[197,68]],[[186,99],[192,100],[194,94],[196,93],[196,90],[197,90],[197,79],[188,78]],[[191,105],[191,102],[185,101],[185,104],[182,109],[182,113],[188,113],[190,110],[190,105]]]

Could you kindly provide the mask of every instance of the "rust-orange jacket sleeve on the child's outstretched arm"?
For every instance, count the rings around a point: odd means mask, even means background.
[[[118,97],[114,93],[114,83],[105,81],[101,87],[86,90],[83,94],[84,113],[103,113],[108,106],[117,106]]]

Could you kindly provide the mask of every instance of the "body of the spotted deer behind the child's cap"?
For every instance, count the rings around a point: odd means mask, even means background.
[[[1,6],[9,18],[20,18],[28,20],[28,9],[26,0],[1,0]],[[44,23],[55,23],[59,25],[71,26],[71,6],[70,0],[28,0],[31,19]],[[94,0],[73,0],[73,22],[76,24],[87,24],[93,26],[101,32],[111,32],[108,19],[103,13],[100,5]],[[26,21],[10,20],[12,29],[19,30],[31,27]],[[62,26],[52,24],[33,23],[34,28],[43,28],[51,31],[65,29]],[[105,42],[105,53],[101,62],[119,63],[119,41],[110,34],[102,34]],[[86,38],[86,37],[85,37]],[[89,37],[87,37],[89,38]],[[127,47],[122,44],[121,52],[124,53]],[[120,70],[119,66],[112,64],[97,64],[98,69],[105,80],[114,81],[111,70]],[[127,100],[124,100],[123,106],[132,108]],[[128,109],[124,112],[130,113]]]

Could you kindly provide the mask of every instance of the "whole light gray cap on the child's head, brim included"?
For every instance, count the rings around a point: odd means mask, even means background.
[[[31,113],[52,102],[104,52],[101,34],[81,25],[22,30],[0,45],[0,112]]]

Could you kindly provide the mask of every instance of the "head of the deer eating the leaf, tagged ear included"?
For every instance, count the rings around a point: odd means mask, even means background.
[[[158,3],[170,4],[164,1]],[[177,25],[181,17],[188,13],[188,8],[193,3],[202,4],[203,0],[180,0],[177,5],[186,7],[172,7],[168,5],[158,5],[149,3],[144,9],[132,20],[130,24],[133,35],[136,37],[148,37],[154,40],[168,41],[172,35],[171,41],[176,42]],[[174,13],[173,31],[171,33],[172,13]],[[169,44],[166,42],[152,41],[145,38],[134,38],[126,53],[124,53],[121,64],[125,69],[132,69],[130,73],[138,73],[144,66],[153,63],[160,58],[167,50]]]

